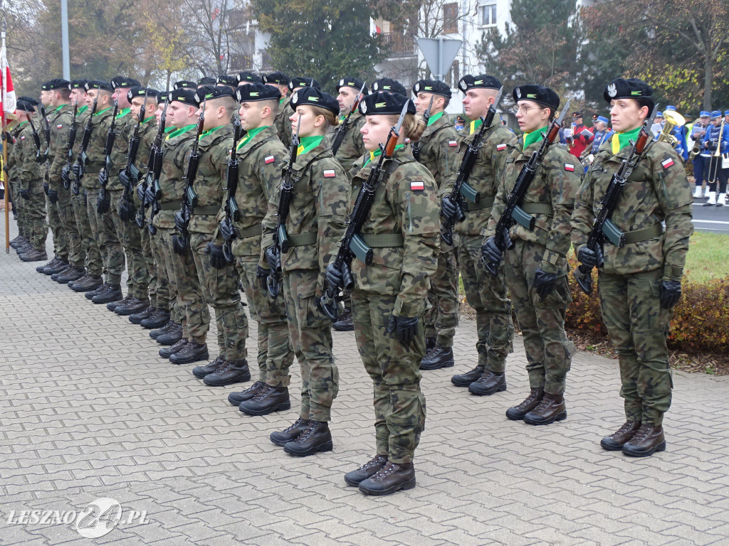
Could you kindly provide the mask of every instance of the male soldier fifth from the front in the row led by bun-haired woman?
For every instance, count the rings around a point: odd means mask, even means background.
[[[176,234],[175,213],[180,210],[185,189],[187,159],[192,142],[198,138],[197,112],[200,105],[196,92],[190,89],[171,91],[169,100],[167,115],[176,130],[167,135],[163,144],[160,212],[155,215],[153,223],[182,323],[169,328],[156,340],[157,343],[171,345],[169,349],[160,349],[160,356],[176,364],[189,364],[208,358],[206,337],[210,312],[200,286],[195,258],[191,252],[176,254],[173,236]]]

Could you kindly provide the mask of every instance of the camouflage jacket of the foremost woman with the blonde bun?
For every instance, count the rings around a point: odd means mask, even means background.
[[[362,166],[352,178],[350,210],[359,189],[376,165],[377,157]],[[352,261],[358,290],[397,296],[395,316],[417,317],[426,309],[430,277],[437,269],[440,242],[440,205],[437,185],[423,165],[416,162],[410,147],[396,149],[384,163],[386,172],[375,192],[370,215],[362,227],[364,242],[368,235],[402,236],[402,246],[373,248],[370,266]]]

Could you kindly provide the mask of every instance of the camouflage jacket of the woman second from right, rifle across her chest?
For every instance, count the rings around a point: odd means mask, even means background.
[[[523,139],[519,138],[513,139],[507,147],[511,153],[506,160],[504,175],[499,183],[499,191],[496,194],[494,208],[491,210],[488,227],[484,232],[485,236],[494,234],[496,222],[501,218],[509,199],[508,195],[514,189],[522,167],[541,144],[540,139],[522,151]],[[530,231],[521,223],[515,223],[509,231],[512,240],[522,239],[545,247],[542,264],[539,266],[545,273],[567,271],[566,256],[570,245],[569,218],[572,215],[577,191],[580,190],[581,172],[580,162],[576,161],[565,146],[561,144],[550,146],[521,203],[523,210],[534,217],[534,229]],[[541,210],[534,210],[534,207]]]

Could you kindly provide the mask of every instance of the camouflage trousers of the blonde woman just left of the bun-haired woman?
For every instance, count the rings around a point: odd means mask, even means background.
[[[318,280],[316,269],[286,271],[283,288],[291,345],[301,367],[300,417],[331,421],[339,369],[332,354],[332,322],[316,297]]]

